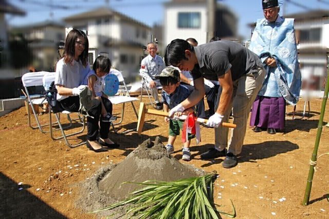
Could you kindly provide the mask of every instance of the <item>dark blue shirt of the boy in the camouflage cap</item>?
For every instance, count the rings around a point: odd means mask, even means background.
[[[183,85],[179,85],[172,94],[167,94],[166,91],[162,90],[161,103],[166,104],[169,109],[172,109],[183,102],[189,95],[189,89]]]

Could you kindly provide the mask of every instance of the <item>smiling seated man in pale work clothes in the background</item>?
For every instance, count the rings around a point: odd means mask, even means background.
[[[140,74],[147,82],[147,86],[151,89],[151,95],[155,100],[155,105],[153,106],[157,110],[162,110],[162,104],[160,103],[158,90],[156,86],[161,86],[158,79],[155,79],[156,75],[159,75],[166,67],[163,59],[156,54],[158,48],[153,42],[148,43],[149,55],[143,58],[140,64]]]

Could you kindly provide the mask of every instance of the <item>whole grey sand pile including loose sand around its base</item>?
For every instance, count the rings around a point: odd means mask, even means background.
[[[204,174],[204,171],[191,165],[179,163],[176,158],[167,153],[165,146],[157,137],[154,143],[150,139],[143,142],[121,163],[102,167],[89,180],[81,183],[80,197],[75,203],[76,207],[90,212],[122,201],[134,189],[141,188],[138,184],[121,185],[123,182],[142,183],[147,180],[169,182]],[[123,207],[102,211],[99,214],[118,213]]]

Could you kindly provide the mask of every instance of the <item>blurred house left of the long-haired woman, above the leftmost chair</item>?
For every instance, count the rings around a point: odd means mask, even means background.
[[[11,29],[12,33],[22,34],[32,52],[32,66],[39,71],[54,71],[59,59],[59,45],[65,39],[65,24],[44,21]]]

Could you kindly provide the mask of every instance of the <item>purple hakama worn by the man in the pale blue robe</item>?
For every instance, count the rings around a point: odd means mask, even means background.
[[[283,97],[257,96],[252,105],[250,126],[284,129],[286,104]]]

